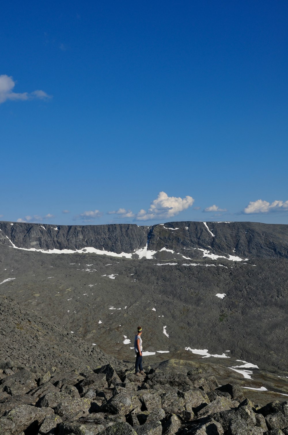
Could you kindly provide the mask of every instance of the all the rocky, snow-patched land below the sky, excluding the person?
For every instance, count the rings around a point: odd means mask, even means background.
[[[0,222],[0,435],[288,434],[287,228]]]

